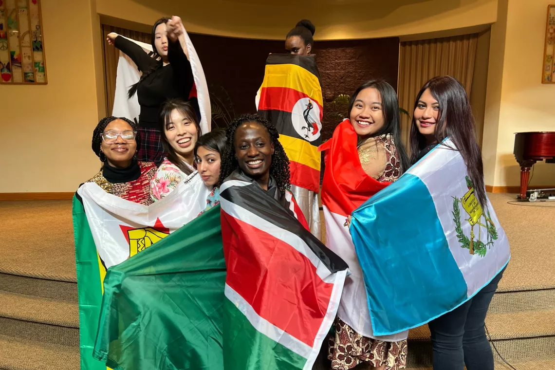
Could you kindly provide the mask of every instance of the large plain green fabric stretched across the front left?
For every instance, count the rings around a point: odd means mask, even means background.
[[[220,206],[108,269],[94,357],[113,369],[223,369]]]

